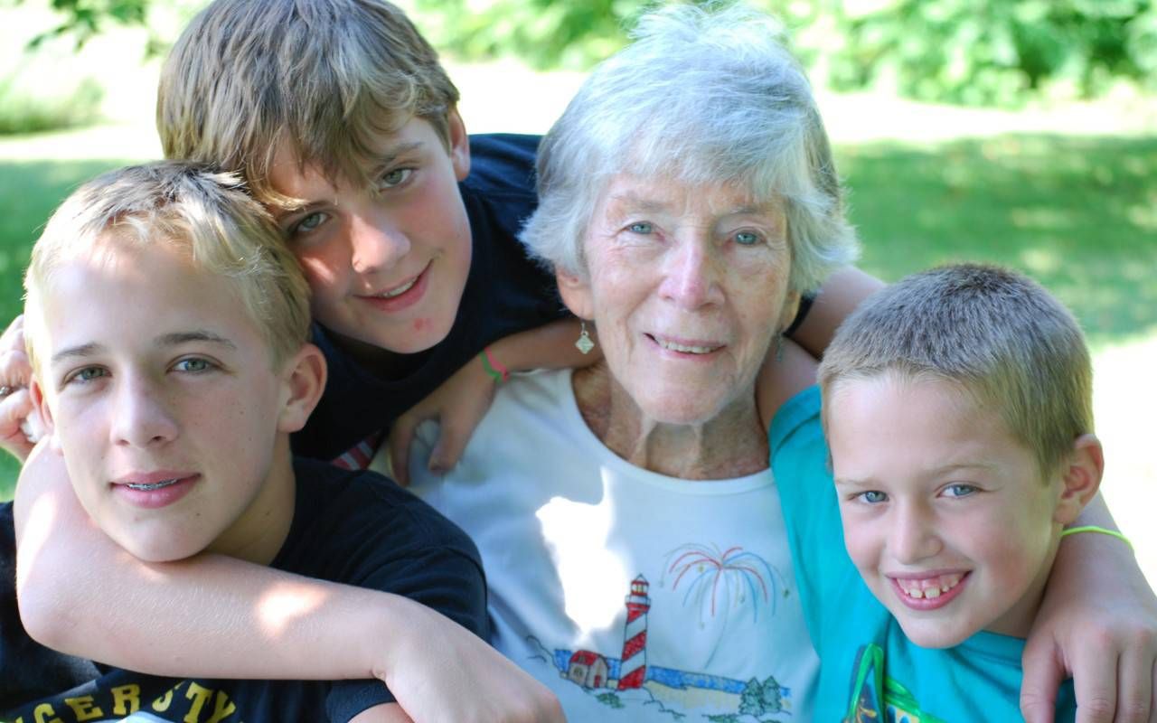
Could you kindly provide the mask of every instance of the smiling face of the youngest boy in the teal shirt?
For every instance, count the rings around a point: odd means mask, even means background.
[[[1052,567],[1061,480],[943,381],[845,379],[824,400],[853,562],[918,645],[1025,636]]]

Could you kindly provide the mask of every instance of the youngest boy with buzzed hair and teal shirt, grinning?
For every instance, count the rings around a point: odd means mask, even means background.
[[[864,302],[819,383],[837,497],[790,484],[818,393],[772,430],[817,720],[1020,720],[1024,637],[1103,470],[1077,323],[1017,273],[936,268]]]

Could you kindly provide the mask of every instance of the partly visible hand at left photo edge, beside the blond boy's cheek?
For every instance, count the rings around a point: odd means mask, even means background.
[[[32,364],[24,349],[24,317],[17,316],[0,335],[0,448],[20,462],[44,434],[44,422],[28,388]]]

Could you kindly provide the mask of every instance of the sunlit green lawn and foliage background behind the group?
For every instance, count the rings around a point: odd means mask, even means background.
[[[159,58],[201,5],[0,0],[0,318],[19,313],[28,251],[56,204],[100,171],[157,157]],[[470,131],[540,133],[590,62],[625,42],[625,19],[643,2],[401,5],[442,51]],[[1148,449],[1157,411],[1157,8],[759,5],[786,19],[820,89],[863,268],[896,280],[944,261],[997,261],[1040,280],[1081,319],[1095,354],[1103,490],[1157,583],[1157,462]],[[16,471],[0,464],[0,496],[10,496]]]

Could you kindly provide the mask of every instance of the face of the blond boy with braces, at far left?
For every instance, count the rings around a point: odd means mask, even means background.
[[[38,384],[68,474],[138,558],[238,554],[230,540],[293,514],[292,473],[274,481],[283,385],[239,309],[230,283],[163,244],[65,261],[44,295]]]

